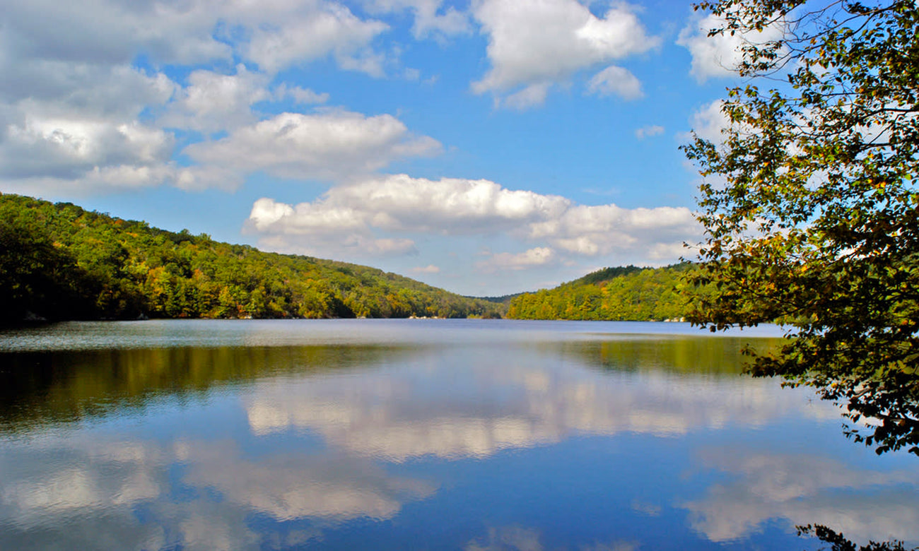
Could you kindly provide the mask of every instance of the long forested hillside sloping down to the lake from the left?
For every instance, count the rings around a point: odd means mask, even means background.
[[[367,266],[0,194],[0,321],[494,317],[502,308]]]

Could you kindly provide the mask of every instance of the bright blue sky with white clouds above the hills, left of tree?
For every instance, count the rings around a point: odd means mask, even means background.
[[[0,191],[480,296],[691,255],[677,148],[740,39],[669,0],[0,7]]]

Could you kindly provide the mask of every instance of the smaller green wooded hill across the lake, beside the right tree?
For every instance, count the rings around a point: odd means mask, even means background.
[[[686,315],[678,287],[691,264],[597,270],[553,289],[512,298],[517,320],[676,320]]]

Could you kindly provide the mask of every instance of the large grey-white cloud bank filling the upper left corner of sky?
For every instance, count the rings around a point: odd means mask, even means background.
[[[305,88],[267,88],[273,73],[292,65],[331,58],[380,75],[385,62],[371,42],[388,27],[325,0],[7,4],[0,10],[0,186],[31,194],[210,185],[210,167],[188,172],[169,162],[175,140],[164,128],[210,133],[254,124],[257,102],[323,103],[328,96]],[[139,57],[152,67],[241,64],[235,74],[194,71],[183,87],[132,67]],[[116,174],[128,177],[118,183],[109,177]]]

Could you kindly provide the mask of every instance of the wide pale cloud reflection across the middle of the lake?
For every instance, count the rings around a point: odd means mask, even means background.
[[[696,376],[661,366],[641,375],[584,369],[582,358],[602,347],[464,348],[452,350],[448,360],[419,354],[413,364],[361,377],[265,381],[247,399],[249,424],[255,434],[309,430],[360,455],[403,461],[483,457],[577,434],[673,436],[786,416],[837,415],[772,380]],[[614,350],[624,354],[629,347]],[[641,367],[641,360],[631,365]]]

